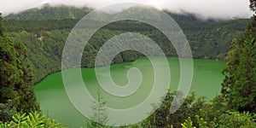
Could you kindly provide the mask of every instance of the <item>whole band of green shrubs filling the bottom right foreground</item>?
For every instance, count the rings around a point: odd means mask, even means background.
[[[230,112],[223,96],[216,96],[212,101],[205,102],[203,97],[195,100],[195,94],[191,94],[181,108],[171,114],[169,108],[174,94],[176,93],[167,94],[160,108],[143,120],[143,127],[255,127],[252,114]]]

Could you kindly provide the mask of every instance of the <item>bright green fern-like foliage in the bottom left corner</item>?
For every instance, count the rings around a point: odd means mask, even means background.
[[[57,123],[54,119],[46,119],[38,112],[32,113],[15,113],[10,122],[0,122],[0,127],[9,128],[42,128],[42,127],[55,127],[61,128],[61,124]]]

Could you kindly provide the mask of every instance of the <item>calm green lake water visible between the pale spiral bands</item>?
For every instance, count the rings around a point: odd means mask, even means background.
[[[177,89],[179,81],[179,61],[177,58],[168,58],[171,68],[172,90]],[[139,90],[128,98],[120,98],[103,93],[104,100],[109,108],[131,108],[148,96],[154,82],[154,70],[147,58],[137,61],[125,62],[111,66],[113,81],[119,85],[127,84],[126,73],[131,67],[137,67],[143,74],[143,81]],[[104,68],[104,67],[103,67]],[[195,91],[196,96],[206,96],[207,100],[217,96],[221,89],[224,76],[221,74],[224,64],[212,60],[194,60],[194,78],[190,91]],[[73,69],[69,69],[70,71]],[[67,72],[70,72],[67,71]],[[92,96],[96,96],[97,83],[93,68],[82,68],[84,82]],[[62,84],[61,73],[53,73],[38,83],[34,88],[40,107],[50,118],[57,119],[63,125],[71,127],[84,126],[86,119],[69,101]]]

